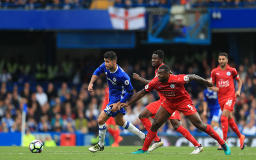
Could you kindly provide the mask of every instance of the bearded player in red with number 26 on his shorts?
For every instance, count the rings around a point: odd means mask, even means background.
[[[216,87],[211,89],[218,92],[218,101],[221,106],[221,127],[223,131],[223,139],[226,141],[228,134],[228,125],[237,134],[240,140],[240,148],[245,147],[245,136],[240,133],[232,115],[236,97],[240,96],[242,81],[237,74],[235,68],[228,65],[228,54],[219,54],[219,66],[211,71],[211,81],[216,83]],[[234,79],[238,82],[238,90],[235,92]]]

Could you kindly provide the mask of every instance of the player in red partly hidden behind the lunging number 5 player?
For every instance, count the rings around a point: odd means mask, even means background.
[[[164,64],[163,58],[164,58],[164,53],[162,50],[157,50],[153,52],[152,66],[156,68],[155,76],[157,76],[158,68]],[[145,85],[150,83],[150,80],[144,79],[135,73],[133,74],[133,78],[143,82]],[[148,117],[154,118],[156,116],[156,112],[161,106],[162,101],[165,99],[165,97],[160,92],[159,92],[159,96],[160,96],[160,99],[158,101],[155,101],[147,105],[139,114],[139,120],[141,120],[141,122],[143,123],[147,131],[150,129],[152,125],[151,122],[148,120]],[[189,140],[195,146],[195,149],[191,154],[198,154],[204,150],[202,145],[200,145],[197,142],[197,140],[190,134],[190,132],[187,129],[185,129],[182,125],[180,125],[180,112],[178,110],[173,112],[169,120],[173,125],[173,128],[176,131],[180,132],[187,140]],[[163,145],[163,142],[161,141],[161,138],[159,138],[158,135],[156,135],[156,137],[154,138],[154,143],[152,147],[148,149],[148,152],[154,151],[155,149],[157,149],[158,147],[161,147],[162,145]]]

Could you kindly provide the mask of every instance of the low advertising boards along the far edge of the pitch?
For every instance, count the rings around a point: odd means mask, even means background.
[[[82,134],[80,132],[67,133],[67,132],[34,132],[33,135],[36,139],[41,140],[42,142],[48,136],[51,136],[52,139],[56,142],[57,145],[62,146],[89,146],[91,145],[91,139],[95,137],[94,134]],[[120,145],[142,145],[141,140],[132,134],[121,134],[124,138]],[[164,142],[164,146],[190,146],[193,147],[193,144],[186,140],[186,138],[180,136],[180,134],[159,134],[161,140]],[[193,136],[197,139],[198,143],[201,143],[205,147],[215,146],[216,141],[206,135],[205,133],[195,133]],[[15,133],[0,133],[0,146],[19,146],[21,143],[21,134],[19,132]],[[74,139],[75,138],[75,139]],[[228,134],[227,142],[230,147],[239,147],[239,139],[235,134]],[[113,137],[107,132],[105,145],[111,145],[113,143]],[[245,145],[250,147],[256,147],[256,135],[246,136]]]

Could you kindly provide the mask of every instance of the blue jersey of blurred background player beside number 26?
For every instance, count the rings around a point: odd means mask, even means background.
[[[218,102],[218,94],[209,88],[204,90],[204,101],[207,102],[208,108],[217,109],[220,108]]]

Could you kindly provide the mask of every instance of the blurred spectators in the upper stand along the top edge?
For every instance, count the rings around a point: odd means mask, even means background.
[[[243,7],[255,6],[255,0],[0,0],[0,8],[18,9],[106,9],[116,7]]]

